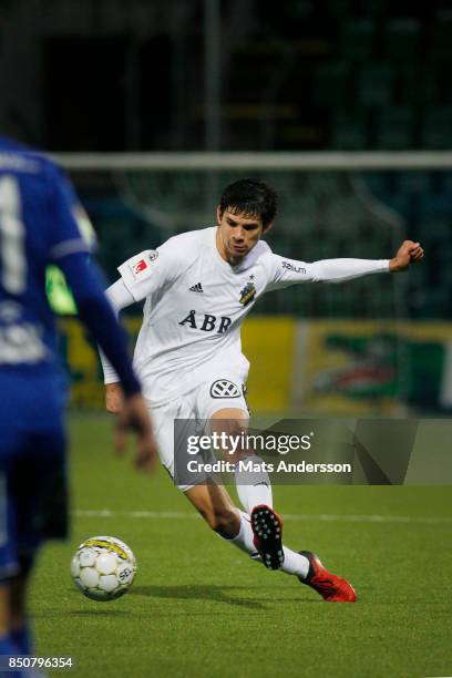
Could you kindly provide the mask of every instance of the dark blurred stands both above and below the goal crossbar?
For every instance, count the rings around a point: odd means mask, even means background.
[[[0,132],[86,157],[420,150],[441,158],[452,146],[451,65],[449,0],[2,0]],[[210,225],[223,185],[242,175],[72,178],[114,279],[144,247]],[[261,311],[451,317],[450,170],[268,178],[281,195],[269,234],[281,255],[388,258],[409,237],[427,258],[396,287],[364,279],[289,290],[265,297]]]

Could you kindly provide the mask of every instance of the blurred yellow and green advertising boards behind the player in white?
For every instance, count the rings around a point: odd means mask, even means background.
[[[141,318],[124,321],[134,339]],[[60,329],[71,404],[103,408],[94,347],[75,318],[62,318]],[[245,322],[243,350],[251,363],[254,412],[400,417],[452,410],[451,322],[263,316]]]

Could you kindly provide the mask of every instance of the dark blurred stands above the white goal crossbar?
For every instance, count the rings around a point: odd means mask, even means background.
[[[0,7],[0,125],[33,145],[451,145],[448,0],[3,0]],[[208,140],[212,96],[219,112]]]

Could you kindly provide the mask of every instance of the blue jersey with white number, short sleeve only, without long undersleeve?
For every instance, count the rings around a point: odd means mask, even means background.
[[[0,138],[0,366],[55,364],[45,267],[88,253],[75,207],[72,187],[52,162]]]

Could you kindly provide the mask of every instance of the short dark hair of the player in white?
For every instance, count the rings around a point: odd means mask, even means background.
[[[259,216],[266,227],[276,217],[278,195],[266,182],[259,178],[244,178],[226,186],[219,201],[219,210],[229,209],[234,214]]]

